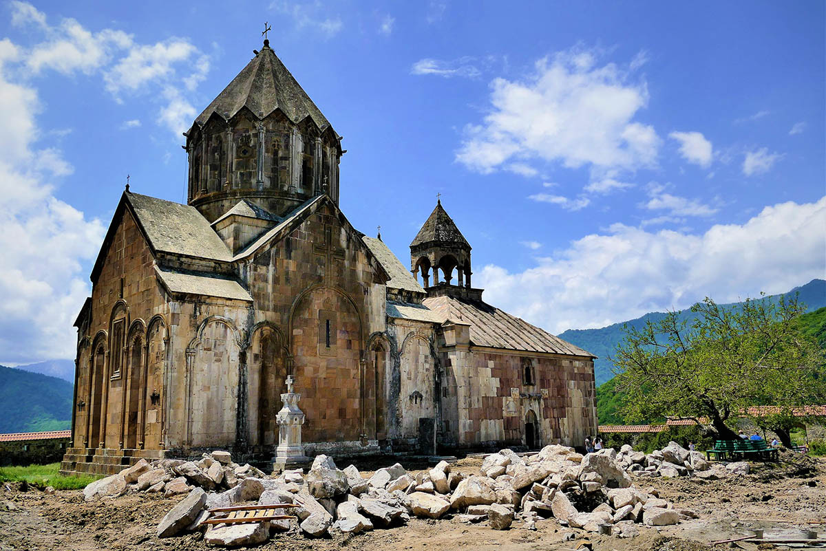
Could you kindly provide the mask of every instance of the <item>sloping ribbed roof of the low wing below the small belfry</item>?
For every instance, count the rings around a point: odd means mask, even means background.
[[[591,352],[481,300],[439,296],[425,299],[424,304],[445,319],[469,323],[473,346],[596,358]]]

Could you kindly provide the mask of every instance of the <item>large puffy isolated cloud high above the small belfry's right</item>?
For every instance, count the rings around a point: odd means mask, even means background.
[[[635,120],[648,105],[648,88],[616,64],[596,64],[597,53],[571,49],[540,59],[522,81],[491,82],[491,109],[467,125],[456,159],[489,173],[520,162],[610,169],[653,167],[660,139]]]

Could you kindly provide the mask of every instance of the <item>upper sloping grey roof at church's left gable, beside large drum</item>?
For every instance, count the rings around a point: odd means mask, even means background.
[[[232,253],[195,207],[124,192],[150,247],[187,257],[229,262]]]

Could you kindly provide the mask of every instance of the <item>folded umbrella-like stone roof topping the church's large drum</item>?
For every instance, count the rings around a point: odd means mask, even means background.
[[[268,45],[263,46],[224,91],[198,115],[195,122],[199,126],[207,124],[212,113],[229,120],[243,107],[259,119],[278,109],[294,124],[310,117],[320,130],[330,126],[330,122]]]

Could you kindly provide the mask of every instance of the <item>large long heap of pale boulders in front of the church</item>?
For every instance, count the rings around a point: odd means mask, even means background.
[[[635,488],[626,472],[626,456],[627,450],[582,456],[572,448],[548,445],[525,458],[511,450],[491,454],[478,475],[453,472],[442,461],[416,474],[395,464],[365,479],[354,465],[339,469],[325,455],[316,457],[306,476],[301,470],[265,476],[249,465],[233,464],[226,452],[213,452],[197,462],[165,459],[135,464],[90,484],[84,492],[87,499],[96,499],[130,491],[170,494],[187,487],[188,496],[158,526],[159,537],[197,530],[207,544],[224,546],[258,544],[273,532],[290,530],[290,520],[204,523],[227,514],[210,510],[240,504],[272,506],[268,508],[275,515],[296,516],[300,530],[311,537],[358,533],[402,525],[411,516],[439,519],[452,513],[466,522],[487,520],[495,530],[505,530],[515,520],[535,530],[540,517],[555,517],[572,528],[620,537],[635,535],[637,523],[670,525],[695,518],[693,512],[676,510],[659,499],[653,488]]]

